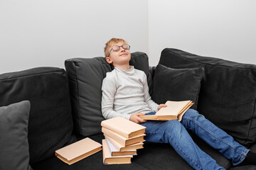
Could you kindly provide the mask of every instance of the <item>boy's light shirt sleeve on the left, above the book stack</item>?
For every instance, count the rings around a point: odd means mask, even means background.
[[[114,111],[114,94],[116,94],[116,79],[107,75],[102,81],[102,115],[105,119],[121,116],[129,120],[131,115],[121,114]]]

